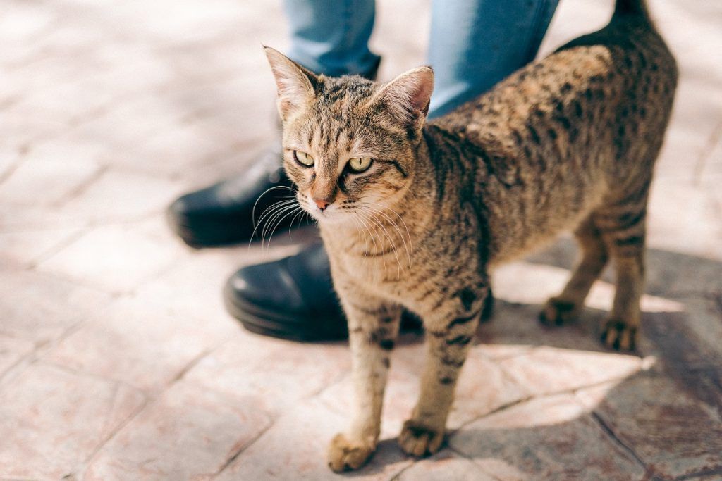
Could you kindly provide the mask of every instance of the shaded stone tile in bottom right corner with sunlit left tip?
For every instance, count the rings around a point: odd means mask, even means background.
[[[683,384],[645,374],[616,386],[585,389],[578,397],[656,477],[722,470],[719,406],[696,399]]]

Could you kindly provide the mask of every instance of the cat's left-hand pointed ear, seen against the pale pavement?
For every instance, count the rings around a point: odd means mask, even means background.
[[[318,77],[274,48],[264,46],[264,52],[276,79],[278,112],[285,120],[313,100]]]

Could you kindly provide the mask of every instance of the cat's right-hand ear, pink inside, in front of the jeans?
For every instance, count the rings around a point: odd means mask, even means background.
[[[421,128],[433,90],[434,71],[430,66],[418,67],[381,86],[369,104],[378,103],[399,122]]]

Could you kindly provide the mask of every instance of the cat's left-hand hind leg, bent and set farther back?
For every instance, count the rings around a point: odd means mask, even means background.
[[[578,316],[608,259],[606,244],[591,216],[578,226],[574,235],[580,247],[580,260],[561,294],[550,298],[539,313],[539,320],[545,325],[562,325]]]

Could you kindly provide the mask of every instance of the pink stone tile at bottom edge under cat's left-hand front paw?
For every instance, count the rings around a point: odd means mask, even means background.
[[[316,400],[300,403],[240,453],[220,475],[225,480],[339,480],[326,465],[329,441],[343,418]],[[356,480],[390,480],[411,464],[396,441],[383,441]]]

